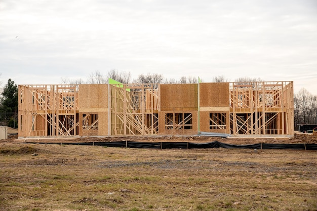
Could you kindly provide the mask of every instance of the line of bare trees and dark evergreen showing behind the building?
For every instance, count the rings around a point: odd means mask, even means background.
[[[112,78],[122,83],[197,83],[198,79],[194,76],[181,76],[179,79],[165,78],[162,74],[147,73],[140,74],[132,79],[130,72],[117,71],[115,69],[108,71],[103,75],[100,71],[95,71],[89,75],[87,80],[61,78],[62,84],[100,84],[107,83],[108,78]],[[261,78],[241,77],[236,78],[235,82],[256,82],[263,81]],[[228,82],[224,76],[213,77],[212,82]],[[11,78],[1,91],[0,98],[0,125],[8,125],[12,128],[18,126],[18,86]],[[294,94],[294,126],[295,130],[298,124],[317,124],[317,95],[310,94],[302,88]]]

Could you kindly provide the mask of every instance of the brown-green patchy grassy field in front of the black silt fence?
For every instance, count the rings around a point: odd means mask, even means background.
[[[0,193],[0,210],[317,210],[317,152],[1,143]]]

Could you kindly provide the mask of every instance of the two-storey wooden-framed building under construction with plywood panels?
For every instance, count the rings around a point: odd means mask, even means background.
[[[19,138],[294,135],[293,82],[19,85]]]

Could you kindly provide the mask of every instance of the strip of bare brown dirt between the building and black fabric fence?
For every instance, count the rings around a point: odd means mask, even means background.
[[[112,142],[112,141],[138,141],[138,142],[192,142],[207,143],[220,141],[227,144],[257,144],[257,143],[283,143],[283,144],[317,144],[317,133],[303,134],[295,132],[293,138],[267,138],[267,137],[208,137],[208,136],[134,136],[134,137],[82,137],[82,138],[28,138],[18,139],[18,130],[8,128],[8,139],[1,142]]]

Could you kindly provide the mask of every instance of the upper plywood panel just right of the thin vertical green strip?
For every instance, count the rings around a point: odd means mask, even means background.
[[[200,83],[200,107],[228,107],[229,83]]]

